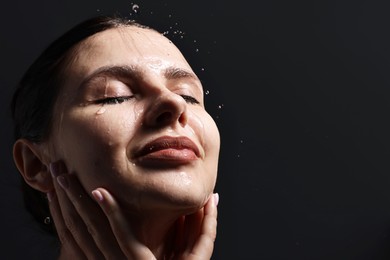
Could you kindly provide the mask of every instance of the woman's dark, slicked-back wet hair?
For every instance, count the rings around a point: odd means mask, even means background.
[[[122,26],[149,28],[119,16],[93,17],[71,28],[42,52],[22,77],[11,101],[15,140],[25,138],[39,143],[49,136],[61,72],[72,48],[98,32]],[[44,230],[55,234],[53,223],[45,221],[50,216],[46,195],[23,178],[21,188],[26,209]]]

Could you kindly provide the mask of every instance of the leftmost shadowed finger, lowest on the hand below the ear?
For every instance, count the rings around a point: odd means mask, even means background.
[[[85,258],[84,253],[81,251],[76,241],[73,239],[72,234],[66,227],[64,219],[62,218],[61,208],[58,204],[58,198],[54,191],[47,194],[49,200],[49,209],[51,217],[56,227],[58,238],[61,241],[62,247],[66,248],[68,252],[71,252],[73,256],[77,256],[81,259]]]

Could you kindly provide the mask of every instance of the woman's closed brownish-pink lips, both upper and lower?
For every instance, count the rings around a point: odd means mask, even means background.
[[[199,157],[198,146],[188,137],[162,136],[136,150],[134,159],[145,166],[177,166]]]

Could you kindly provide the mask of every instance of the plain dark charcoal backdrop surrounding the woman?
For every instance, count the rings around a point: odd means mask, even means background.
[[[66,29],[120,13],[168,31],[208,93],[222,138],[213,259],[390,259],[389,10],[386,1],[3,3],[1,258],[55,256],[17,187],[13,86]]]

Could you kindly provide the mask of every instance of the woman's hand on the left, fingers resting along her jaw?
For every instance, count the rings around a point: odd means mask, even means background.
[[[105,212],[81,186],[77,176],[67,173],[62,162],[52,163],[50,171],[54,178],[55,192],[50,192],[48,198],[62,245],[60,259],[155,259],[146,247],[132,237],[122,214],[114,212],[119,207],[107,191],[96,191],[94,196],[99,197],[99,194],[106,192],[104,195],[112,198],[111,204],[104,204],[108,216],[112,218],[111,222],[115,223],[115,230],[111,228]],[[126,254],[116,237],[119,235],[124,239],[124,233],[127,241]]]

